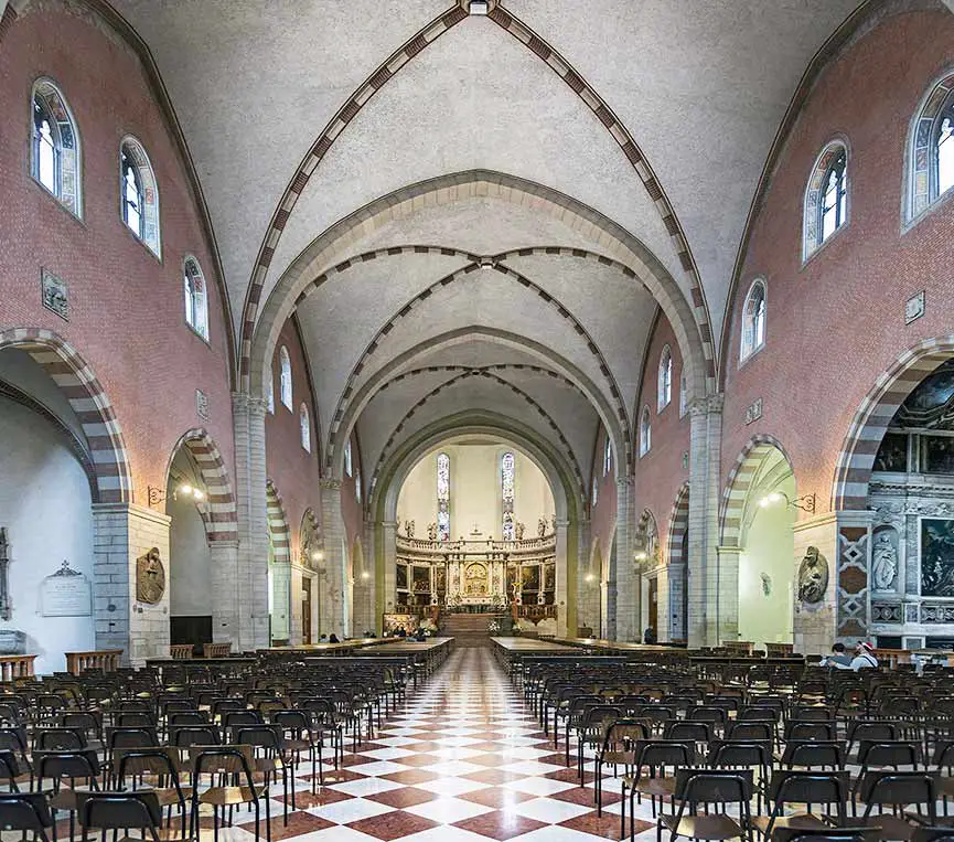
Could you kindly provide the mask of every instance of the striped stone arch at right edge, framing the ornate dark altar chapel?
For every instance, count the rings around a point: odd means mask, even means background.
[[[909,348],[878,377],[851,419],[838,452],[832,511],[868,507],[868,480],[885,430],[914,387],[954,355],[954,334],[925,339]]]

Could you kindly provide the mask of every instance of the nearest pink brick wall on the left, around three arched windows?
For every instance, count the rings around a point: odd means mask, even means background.
[[[21,14],[0,50],[0,326],[45,328],[89,363],[116,409],[135,500],[165,487],[175,443],[205,427],[233,473],[227,331],[212,255],[172,132],[135,54],[92,17],[44,3]],[[76,120],[83,219],[30,177],[33,82],[57,82]],[[162,259],[119,215],[119,143],[135,135],[159,185]],[[185,323],[182,260],[194,255],[210,290],[206,343]],[[40,270],[68,285],[69,321],[41,305]],[[208,397],[197,416],[195,390]]]

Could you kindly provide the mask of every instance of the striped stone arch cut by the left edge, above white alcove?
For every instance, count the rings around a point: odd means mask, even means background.
[[[132,502],[132,470],[122,428],[93,369],[73,345],[52,330],[13,328],[0,331],[0,350],[29,354],[50,375],[76,414],[93,460],[96,502]]]

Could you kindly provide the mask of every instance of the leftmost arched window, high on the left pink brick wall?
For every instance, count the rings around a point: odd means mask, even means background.
[[[33,85],[30,171],[66,210],[79,216],[79,137],[63,94],[50,79]]]

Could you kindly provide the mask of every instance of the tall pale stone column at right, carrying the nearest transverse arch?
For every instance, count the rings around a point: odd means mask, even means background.
[[[689,547],[687,574],[689,648],[718,646],[719,563],[719,454],[722,433],[722,396],[693,401],[689,444]],[[737,589],[738,595],[738,589]],[[738,599],[738,596],[736,597]]]

